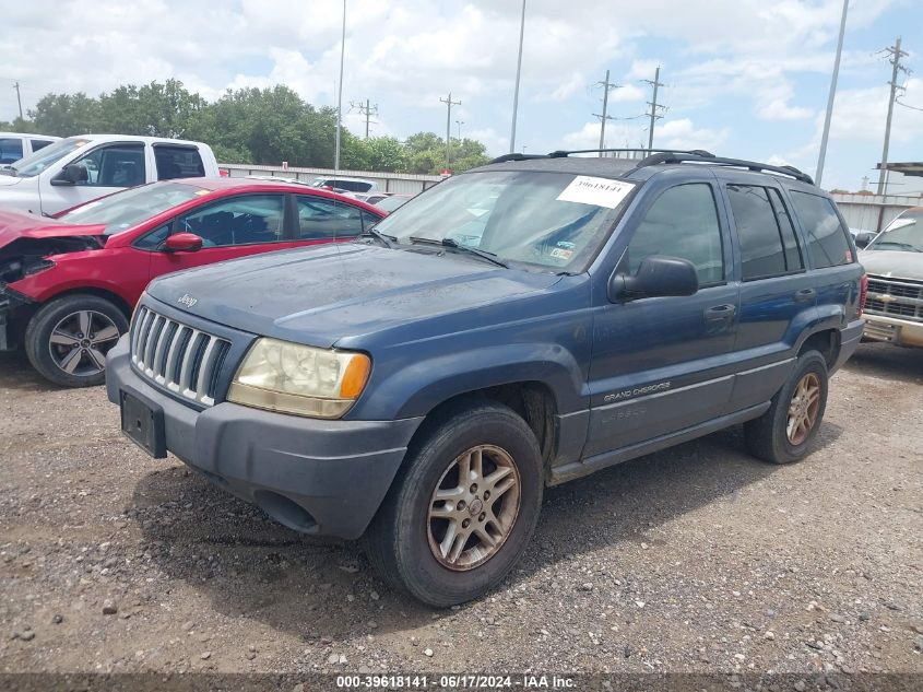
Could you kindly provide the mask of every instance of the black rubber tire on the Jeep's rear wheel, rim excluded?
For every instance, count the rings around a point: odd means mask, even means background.
[[[819,386],[814,422],[796,444],[789,437],[789,408],[800,383],[805,378]],[[782,388],[772,397],[772,404],[758,419],[744,423],[744,439],[747,451],[771,464],[792,464],[803,459],[817,436],[827,408],[829,378],[827,361],[817,351],[806,351],[798,356],[795,368]]]

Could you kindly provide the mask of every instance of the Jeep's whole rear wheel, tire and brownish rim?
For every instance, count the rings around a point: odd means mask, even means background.
[[[803,459],[824,419],[827,390],[827,361],[817,351],[803,353],[769,410],[744,424],[747,450],[772,464]]]

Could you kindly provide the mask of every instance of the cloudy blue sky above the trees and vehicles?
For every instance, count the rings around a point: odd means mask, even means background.
[[[169,78],[214,99],[228,87],[286,84],[335,105],[340,0],[29,0],[7,3],[0,120],[48,92],[91,95]],[[509,151],[520,0],[346,0],[344,112],[378,105],[371,134],[422,130]],[[597,146],[611,71],[606,144],[647,143],[661,67],[655,148],[789,163],[814,175],[842,0],[526,0],[516,149]],[[923,108],[923,0],[852,0],[824,187],[874,186],[891,66],[900,101]],[[1,89],[5,82],[7,89]],[[460,121],[461,125],[459,126]],[[363,134],[357,109],[344,115]],[[923,160],[923,110],[895,107],[890,161]],[[894,189],[899,193],[899,189]]]

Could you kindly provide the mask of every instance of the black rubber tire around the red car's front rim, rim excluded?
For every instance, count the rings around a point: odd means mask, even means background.
[[[56,327],[61,325],[61,320],[67,320],[69,316],[76,316],[81,313],[92,315],[93,329],[100,331],[108,329],[108,332],[104,335],[106,339],[104,342],[91,344],[95,353],[91,355],[87,352],[85,356],[82,356],[75,372],[68,373],[59,365],[60,357],[56,361],[55,355],[52,355],[52,332]],[[76,328],[79,317],[73,317],[72,324]],[[111,338],[111,333],[109,333],[113,331],[111,327],[118,330],[115,338]],[[126,331],[128,331],[128,319],[111,301],[91,294],[68,295],[43,305],[33,316],[25,330],[25,352],[32,366],[56,385],[62,387],[102,385],[106,380],[106,371],[94,366],[93,363],[95,359],[99,357],[99,354],[105,356],[108,349],[118,341],[118,336]],[[103,362],[105,364],[105,357]]]

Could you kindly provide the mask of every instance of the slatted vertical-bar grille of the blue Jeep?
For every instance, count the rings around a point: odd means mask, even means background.
[[[147,379],[212,406],[230,342],[141,306],[131,327],[131,362]]]

